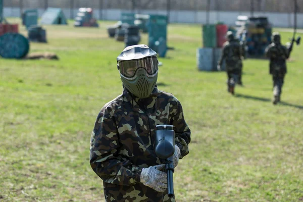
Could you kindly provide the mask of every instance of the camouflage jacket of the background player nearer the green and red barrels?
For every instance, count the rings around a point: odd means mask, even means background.
[[[225,60],[227,71],[240,69],[242,67],[242,55],[242,46],[238,41],[226,41],[223,44],[222,55],[218,64],[222,65],[223,60]]]

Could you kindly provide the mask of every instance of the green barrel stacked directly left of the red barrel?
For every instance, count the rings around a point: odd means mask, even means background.
[[[203,25],[203,47],[217,47],[216,25]]]

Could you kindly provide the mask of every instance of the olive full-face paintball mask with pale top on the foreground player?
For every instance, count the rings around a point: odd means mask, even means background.
[[[148,97],[158,78],[157,53],[147,45],[126,47],[117,57],[123,85],[139,98]]]

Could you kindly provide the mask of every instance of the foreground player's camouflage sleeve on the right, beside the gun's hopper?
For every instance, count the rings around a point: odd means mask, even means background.
[[[175,144],[179,146],[182,159],[189,153],[190,129],[185,122],[181,103],[175,98],[172,110],[171,125],[175,126]]]

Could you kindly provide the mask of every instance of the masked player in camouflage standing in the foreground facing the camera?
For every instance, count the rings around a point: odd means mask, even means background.
[[[156,125],[175,130],[174,166],[189,153],[190,129],[179,100],[157,88],[157,54],[147,45],[118,56],[123,93],[99,112],[91,135],[90,165],[103,180],[106,201],[175,201],[167,194],[165,164],[156,156]]]

